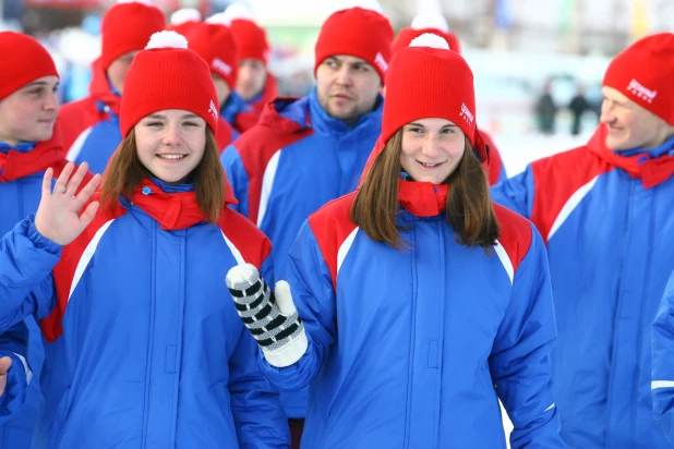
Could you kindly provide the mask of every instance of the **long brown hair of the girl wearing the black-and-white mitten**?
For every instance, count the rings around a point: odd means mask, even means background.
[[[372,162],[351,206],[351,221],[370,239],[385,242],[396,250],[407,246],[400,240],[401,228],[396,223],[401,149],[400,129]],[[486,175],[468,138],[461,160],[445,183],[450,185],[447,195],[447,222],[455,231],[457,241],[466,246],[493,246],[501,230],[492,206]]]

